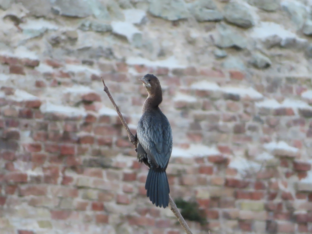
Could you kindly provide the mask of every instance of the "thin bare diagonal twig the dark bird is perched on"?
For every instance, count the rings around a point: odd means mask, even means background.
[[[130,142],[134,145],[135,148],[137,148],[138,146],[138,143],[137,141],[135,140],[135,137],[134,135],[132,134],[132,132],[130,131],[126,121],[124,120],[124,117],[122,116],[118,106],[116,105],[112,95],[110,95],[110,91],[108,90],[108,87],[105,85],[105,82],[104,80],[102,79],[102,82],[103,82],[103,85],[104,85],[104,91],[105,93],[107,94],[107,96],[110,98],[110,101],[113,103],[116,111],[117,111],[117,114],[119,116],[119,119],[121,120],[121,123],[122,125],[124,125],[124,128],[127,130],[127,133],[128,133],[128,137],[129,137],[129,140]],[[182,217],[181,213],[179,212],[178,210],[178,207],[177,205],[173,202],[172,198],[170,197],[169,195],[169,208],[170,210],[173,212],[173,214],[175,215],[175,217],[177,217],[179,223],[181,224],[181,226],[183,227],[184,231],[187,233],[187,234],[192,234],[191,232],[191,229],[188,227],[188,224],[185,222],[184,218]]]

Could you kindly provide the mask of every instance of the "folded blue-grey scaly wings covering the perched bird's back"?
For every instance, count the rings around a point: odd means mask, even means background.
[[[168,121],[166,117],[165,120]],[[140,144],[156,166],[166,167],[172,151],[172,132],[169,122],[163,124],[159,118],[145,115],[138,123],[137,135]]]

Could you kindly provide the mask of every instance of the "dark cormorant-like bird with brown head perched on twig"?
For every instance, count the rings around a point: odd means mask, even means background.
[[[139,78],[148,92],[139,120],[135,139],[137,158],[149,167],[145,189],[149,200],[157,207],[166,208],[169,204],[169,183],[166,174],[172,152],[172,129],[167,117],[159,108],[163,101],[158,78],[146,74]]]

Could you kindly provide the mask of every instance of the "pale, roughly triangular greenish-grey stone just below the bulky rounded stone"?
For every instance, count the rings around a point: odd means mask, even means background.
[[[217,25],[218,35],[215,44],[221,48],[237,47],[246,48],[247,41],[241,35],[233,32],[229,26],[224,23]]]

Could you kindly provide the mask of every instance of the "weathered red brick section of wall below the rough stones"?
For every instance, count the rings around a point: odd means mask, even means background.
[[[148,72],[173,127],[170,194],[209,221],[194,233],[312,232],[311,77],[0,58],[0,233],[184,233],[146,197],[147,168],[101,92],[103,76],[135,132]]]

